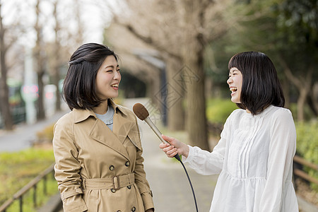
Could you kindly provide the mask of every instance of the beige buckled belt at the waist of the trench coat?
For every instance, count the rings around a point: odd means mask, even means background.
[[[109,178],[82,179],[83,190],[120,189],[135,183],[134,173]]]

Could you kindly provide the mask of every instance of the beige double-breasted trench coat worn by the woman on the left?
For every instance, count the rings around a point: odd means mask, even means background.
[[[74,109],[54,126],[54,170],[64,211],[143,212],[154,207],[136,116],[110,103],[113,131],[90,110]]]

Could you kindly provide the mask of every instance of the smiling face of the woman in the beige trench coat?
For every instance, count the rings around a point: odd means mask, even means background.
[[[107,56],[96,76],[96,93],[102,99],[117,98],[122,76],[114,56]]]

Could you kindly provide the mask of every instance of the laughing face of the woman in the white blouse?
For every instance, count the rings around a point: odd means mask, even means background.
[[[230,69],[230,72],[228,74],[228,86],[231,90],[231,101],[234,103],[241,103],[240,102],[240,96],[242,91],[242,82],[243,82],[243,76],[241,71],[239,71],[237,68],[232,67]]]

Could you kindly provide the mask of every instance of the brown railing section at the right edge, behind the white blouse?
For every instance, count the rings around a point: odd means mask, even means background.
[[[311,177],[306,172],[304,172],[303,170],[298,168],[299,167],[298,164],[306,166],[306,167],[310,167],[312,170],[316,170],[316,171],[318,171],[318,165],[314,164],[314,163],[310,163],[309,161],[305,160],[304,158],[301,158],[298,155],[295,155],[295,157],[294,157],[294,168],[293,168],[294,179],[295,179],[295,177],[300,177],[300,178],[305,179],[305,180],[312,182],[314,184],[318,184],[318,179]]]

